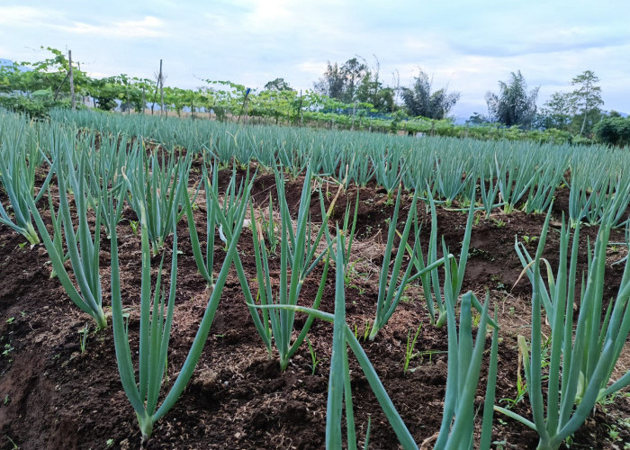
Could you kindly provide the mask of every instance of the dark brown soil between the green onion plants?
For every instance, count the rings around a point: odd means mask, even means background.
[[[239,174],[242,176],[243,174]],[[221,173],[222,188],[229,171]],[[302,178],[287,180],[286,196],[295,213],[302,193]],[[323,186],[326,207],[337,193],[337,186]],[[347,204],[354,208],[359,194],[356,243],[353,247],[351,280],[347,286],[347,323],[356,326],[365,353],[381,377],[386,391],[418,443],[436,434],[442,419],[446,387],[446,329],[429,324],[428,312],[419,286],[412,286],[392,319],[374,341],[364,340],[365,324],[374,319],[378,295],[378,267],[383,260],[387,234],[386,220],[393,202],[374,184],[352,187],[338,196],[329,226],[343,220]],[[269,195],[275,195],[274,175],[259,174],[253,198],[255,206],[266,211]],[[556,193],[562,205],[568,192]],[[6,201],[3,193],[0,200]],[[276,201],[277,198],[274,198]],[[41,200],[42,205],[48,199]],[[402,196],[401,220],[410,198]],[[275,202],[277,205],[277,202]],[[319,194],[311,196],[311,213],[321,220]],[[554,209],[554,227],[561,220],[562,207]],[[545,217],[514,211],[508,215],[493,212],[486,219],[478,213],[473,227],[470,257],[464,289],[483,298],[490,293],[492,305],[500,311],[500,362],[497,402],[515,399],[518,372],[518,334],[529,335],[531,288],[527,277],[516,286],[522,266],[514,251],[514,239],[533,238],[527,246],[536,251]],[[428,241],[430,214],[419,203],[420,219],[426,223],[420,235]],[[133,339],[139,325],[140,239],[130,227],[136,220],[133,211],[124,211],[118,226],[123,303],[130,309]],[[44,212],[45,220],[49,220]],[[205,239],[204,211],[195,212],[200,239]],[[458,255],[464,235],[466,215],[438,208],[438,234],[444,235],[449,250]],[[193,341],[208,302],[208,291],[198,274],[187,234],[187,224],[178,226],[179,250],[174,325],[169,346],[167,381],[162,392],[172,385]],[[586,268],[587,238],[594,242],[596,228],[581,232],[580,269]],[[110,304],[110,248],[102,234],[101,275],[103,306]],[[623,232],[614,230],[611,241],[623,241]],[[24,239],[7,227],[0,227],[0,448],[22,449],[101,449],[138,448],[139,428],[133,410],[122,391],[114,354],[112,327],[94,330],[93,321],[70,302],[57,279],[50,279],[50,266],[43,246],[29,247]],[[217,235],[216,241],[220,243]],[[168,278],[170,245],[167,241],[163,270]],[[239,252],[248,279],[256,276],[251,231],[245,229]],[[558,237],[550,231],[545,257],[557,264]],[[605,297],[617,294],[623,265],[611,263],[626,256],[623,246],[609,248]],[[555,256],[555,260],[554,260]],[[216,248],[215,271],[224,257]],[[159,257],[153,258],[157,270]],[[279,272],[279,257],[270,259],[271,272]],[[318,288],[317,275],[311,275],[302,288],[302,304],[309,302]],[[332,274],[332,272],[331,272]],[[514,286],[514,287],[513,287]],[[320,309],[334,310],[334,275],[329,275]],[[492,308],[492,306],[491,306]],[[298,315],[296,327],[305,318]],[[89,328],[85,349],[80,346],[80,330]],[[419,328],[415,351],[404,374],[405,347],[409,333]],[[247,310],[238,278],[232,269],[221,296],[201,360],[193,379],[173,410],[160,419],[148,448],[323,448],[326,427],[332,326],[316,320],[309,338],[319,364],[313,367],[309,348],[303,345],[289,367],[281,372],[277,355],[271,358],[258,338]],[[616,375],[630,369],[630,351],[625,351]],[[134,347],[132,346],[132,349]],[[137,357],[137,355],[134,355]],[[353,401],[357,436],[363,445],[368,419],[371,420],[370,447],[396,448],[396,436],[387,423],[369,384],[354,356],[350,356]],[[483,402],[485,373],[478,392]],[[530,417],[527,401],[513,409]],[[481,415],[481,414],[480,414]],[[572,449],[625,448],[630,443],[630,396],[617,395],[606,405],[598,405],[587,423],[572,438]],[[493,448],[535,448],[536,433],[518,422],[495,413]],[[627,448],[627,447],[626,447]]]

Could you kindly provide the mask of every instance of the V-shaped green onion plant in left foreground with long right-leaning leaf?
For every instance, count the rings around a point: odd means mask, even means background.
[[[171,282],[168,302],[163,295],[159,293],[159,280],[157,280],[156,293],[153,301],[151,301],[150,293],[150,238],[148,237],[148,215],[144,210],[144,205],[139,204],[140,225],[142,233],[142,284],[140,296],[140,324],[139,324],[139,369],[138,379],[136,379],[134,365],[131,360],[129,330],[125,326],[120,284],[120,268],[118,262],[118,238],[115,229],[112,229],[112,323],[114,344],[116,347],[116,360],[118,363],[119,373],[121,375],[121,383],[131,406],[136,411],[139,422],[140,432],[142,434],[142,444],[146,443],[151,436],[153,426],[158,419],[164,415],[175,405],[175,402],[184,392],[187,383],[193,376],[194,367],[197,365],[202,354],[202,349],[210,332],[212,320],[217,311],[220,302],[220,295],[225,286],[229,268],[232,260],[238,253],[238,238],[243,229],[243,220],[247,211],[249,201],[249,193],[251,192],[251,184],[247,185],[245,193],[245,201],[238,207],[237,219],[231,226],[228,225],[225,216],[222,214],[219,205],[219,199],[212,196],[213,211],[216,216],[225,223],[228,231],[228,249],[223,264],[220,268],[219,275],[215,280],[214,289],[211,291],[210,299],[203,314],[199,329],[194,337],[193,344],[190,347],[188,356],[184,361],[184,365],[172,384],[170,391],[164,397],[162,403],[157,406],[159,401],[159,393],[165,376],[166,358],[168,353],[168,341],[170,338],[170,330],[173,319],[173,311],[175,308],[175,282],[177,271],[177,238],[176,238],[176,204],[172,206],[173,210],[170,214],[172,220],[171,227],[173,234],[173,254],[171,266]],[[211,192],[212,193],[212,192]],[[110,213],[113,214],[112,202],[109,206]],[[161,271],[160,271],[161,273]]]

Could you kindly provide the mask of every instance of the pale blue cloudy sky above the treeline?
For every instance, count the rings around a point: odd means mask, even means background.
[[[152,77],[163,58],[166,85],[311,89],[327,61],[360,55],[386,84],[421,67],[461,93],[459,117],[486,112],[510,72],[540,86],[540,106],[592,70],[604,108],[630,112],[628,17],[628,0],[0,0],[0,58],[48,58],[43,45],[71,49],[92,76]]]

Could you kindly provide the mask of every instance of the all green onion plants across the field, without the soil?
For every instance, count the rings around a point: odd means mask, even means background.
[[[482,362],[488,358],[479,448],[490,448],[493,415],[500,413],[536,430],[538,448],[546,450],[561,446],[581,427],[598,401],[630,384],[630,372],[611,383],[630,333],[627,257],[617,298],[608,308],[603,306],[610,230],[625,227],[626,246],[630,246],[628,159],[625,149],[591,146],[412,139],[65,110],[52,111],[49,121],[40,122],[0,112],[0,186],[8,199],[0,202],[0,223],[31,243],[43,242],[54,276],[76,307],[91,316],[99,329],[109,327],[103,312],[99,267],[101,230],[110,239],[115,353],[121,385],[136,412],[143,442],[151,436],[157,420],[173,408],[193,376],[222,290],[230,271],[234,271],[258,338],[270,358],[277,356],[282,370],[304,340],[308,342],[314,320],[333,323],[328,448],[341,448],[342,443],[356,448],[359,440],[352,409],[350,354],[361,366],[401,446],[419,448],[345,317],[358,199],[355,205],[348,205],[333,231],[327,226],[332,207],[325,206],[320,188],[323,179],[338,184],[339,192],[352,185],[375,182],[386,190],[394,209],[367,338],[379,335],[395,314],[405,288],[418,281],[432,325],[446,327],[448,333],[446,397],[435,448],[473,448],[477,415],[474,402]],[[201,161],[200,181],[190,179],[193,161]],[[242,179],[236,175],[238,166],[247,173]],[[234,172],[228,187],[220,192],[218,172],[223,167],[233,167]],[[251,202],[253,184],[261,172],[275,177],[277,204],[270,202],[268,211],[257,211]],[[302,176],[302,198],[297,214],[292,215],[285,196],[285,178]],[[551,267],[542,256],[558,189],[568,189],[570,200],[567,220],[562,220],[559,231],[559,265]],[[48,226],[41,215],[46,193],[51,222]],[[58,206],[52,202],[53,193],[58,197]],[[322,224],[311,220],[313,195],[320,204]],[[401,208],[403,196],[409,205],[406,216]],[[430,210],[430,224],[419,220],[422,202]],[[120,285],[121,237],[116,225],[125,204],[135,211],[141,234],[137,337],[128,329],[128,305],[123,303]],[[201,223],[200,215],[194,213],[200,204],[205,211]],[[468,214],[459,255],[452,254],[437,236],[440,206]],[[491,311],[489,295],[480,299],[475,293],[462,292],[474,213],[490,215],[498,208],[506,213],[522,209],[546,214],[534,255],[522,243],[515,244],[522,276],[527,276],[532,286],[531,334],[518,338],[526,361],[531,417],[495,405],[500,336],[497,312]],[[89,216],[94,217],[94,225],[88,221]],[[188,223],[188,238],[196,266],[208,284],[209,299],[185,362],[175,381],[166,386],[163,382],[175,311],[177,241],[181,238],[176,232],[179,220]],[[588,275],[580,282],[578,239],[581,228],[587,225],[598,225],[599,233],[589,250]],[[197,231],[200,226],[207,230],[205,242]],[[423,226],[431,227],[425,251],[420,245]],[[247,279],[238,250],[246,227],[252,229],[255,281]],[[165,248],[169,236],[173,247]],[[218,248],[224,251],[217,252]],[[166,251],[172,255],[169,281],[161,279],[164,257],[159,275],[151,275],[152,257],[163,256]],[[217,266],[214,258],[218,255],[224,257]],[[277,279],[269,269],[271,258],[280,261]],[[316,273],[315,268],[320,276],[319,289],[311,306],[305,307],[299,302],[302,286],[307,276]],[[335,280],[333,312],[319,308],[329,276]],[[580,311],[574,316],[572,309],[578,298]],[[309,319],[296,321],[297,312],[308,314]],[[549,324],[548,336],[543,332],[545,321]],[[488,337],[490,353],[486,354]],[[546,339],[550,342],[548,357],[544,357],[543,349]],[[413,344],[408,345],[411,356]],[[138,353],[132,348],[138,348]],[[138,360],[134,361],[136,355]],[[347,426],[342,430],[344,415]],[[369,428],[361,439],[367,446]]]

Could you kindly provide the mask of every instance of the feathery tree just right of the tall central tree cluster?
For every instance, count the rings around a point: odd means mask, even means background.
[[[431,94],[431,81],[422,70],[414,80],[412,88],[403,87],[401,90],[402,101],[412,116],[444,119],[459,101],[460,94],[458,92],[448,94],[446,87]]]

